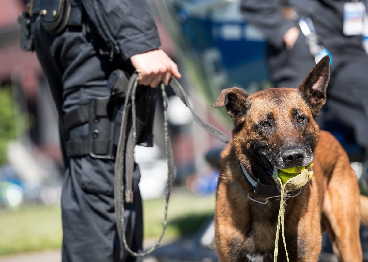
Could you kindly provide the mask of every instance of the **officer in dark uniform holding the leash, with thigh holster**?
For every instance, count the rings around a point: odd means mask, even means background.
[[[62,260],[135,261],[116,230],[110,151],[116,149],[111,139],[116,105],[107,79],[116,69],[128,76],[136,70],[138,84],[155,88],[162,81],[167,85],[171,75],[181,77],[177,65],[158,49],[145,0],[31,0],[28,10],[22,28],[30,30],[22,37],[39,57],[60,116],[66,164]],[[134,202],[124,213],[127,241],[135,252],[141,251],[143,237],[139,178],[136,167]]]

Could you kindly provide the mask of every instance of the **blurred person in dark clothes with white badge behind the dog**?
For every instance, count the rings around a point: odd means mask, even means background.
[[[354,129],[356,142],[365,150],[363,175],[368,178],[368,56],[356,30],[360,25],[354,24],[362,20],[365,4],[359,0],[242,0],[241,10],[266,35],[267,62],[276,87],[299,87],[318,60],[317,52],[323,47],[329,51],[326,107]],[[318,36],[315,53],[315,46],[307,44],[300,30],[301,18],[307,19],[302,21],[307,33],[315,31]]]

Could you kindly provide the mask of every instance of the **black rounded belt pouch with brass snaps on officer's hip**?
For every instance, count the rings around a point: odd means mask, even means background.
[[[41,25],[50,34],[62,32],[69,21],[70,2],[68,0],[40,0],[42,10]]]

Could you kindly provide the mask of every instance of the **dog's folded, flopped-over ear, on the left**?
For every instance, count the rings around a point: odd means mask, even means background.
[[[248,93],[245,90],[233,87],[221,91],[213,107],[226,107],[226,113],[233,120],[236,116],[245,114],[245,104],[247,102]]]

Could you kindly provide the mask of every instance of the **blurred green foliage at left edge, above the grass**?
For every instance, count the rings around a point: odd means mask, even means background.
[[[10,87],[0,87],[0,165],[6,160],[7,144],[15,139],[13,98]]]

